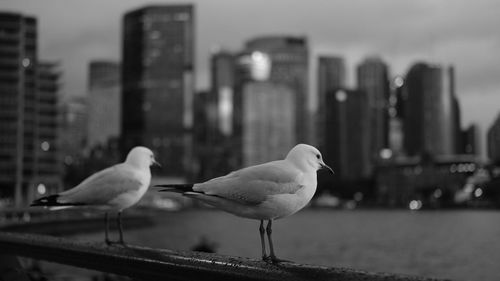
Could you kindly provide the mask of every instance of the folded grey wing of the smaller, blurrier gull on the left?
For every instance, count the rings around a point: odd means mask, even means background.
[[[138,173],[122,163],[99,171],[76,187],[61,192],[58,202],[102,205],[124,192],[138,190],[142,184]]]

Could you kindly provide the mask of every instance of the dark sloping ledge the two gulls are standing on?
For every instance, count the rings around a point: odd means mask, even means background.
[[[106,246],[44,235],[0,232],[2,254],[52,261],[139,280],[335,280],[431,281],[438,279],[199,252],[157,250],[138,246]]]

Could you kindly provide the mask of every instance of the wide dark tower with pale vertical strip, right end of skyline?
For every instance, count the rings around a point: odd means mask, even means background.
[[[453,155],[453,68],[417,63],[405,79],[404,144],[408,155]]]

